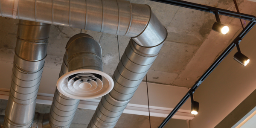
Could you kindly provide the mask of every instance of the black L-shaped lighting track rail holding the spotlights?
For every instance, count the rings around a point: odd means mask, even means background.
[[[219,15],[225,15],[229,17],[235,17],[243,20],[249,20],[250,22],[247,26],[239,33],[239,35],[235,38],[234,41],[221,53],[221,55],[214,61],[214,63],[207,69],[207,71],[198,79],[198,81],[191,87],[191,89],[186,93],[186,95],[180,100],[180,102],[176,105],[176,107],[172,110],[172,112],[163,120],[161,125],[158,128],[163,128],[167,122],[175,115],[175,113],[180,109],[180,107],[189,99],[190,94],[195,92],[195,90],[199,87],[199,85],[212,73],[212,71],[221,63],[221,61],[232,51],[236,44],[239,44],[244,36],[253,28],[256,24],[256,17],[253,15],[247,15],[243,13],[233,12],[229,10],[219,9],[211,6],[205,6],[197,3],[186,2],[182,0],[151,0],[160,3],[171,4],[174,6],[185,7],[189,9],[200,10],[204,12],[214,13],[218,12]]]

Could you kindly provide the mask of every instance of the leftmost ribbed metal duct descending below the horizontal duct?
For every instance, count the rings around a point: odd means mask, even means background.
[[[47,56],[50,24],[20,20],[4,128],[29,128]]]

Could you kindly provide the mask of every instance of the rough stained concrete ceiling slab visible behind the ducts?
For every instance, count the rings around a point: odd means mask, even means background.
[[[230,26],[228,35],[212,31],[215,16],[192,9],[148,0],[130,0],[132,3],[148,4],[168,30],[168,37],[160,55],[148,71],[148,81],[180,87],[192,87],[195,81],[212,64],[238,33],[241,24],[238,19],[221,16],[221,22]],[[222,9],[235,11],[233,0],[189,0]],[[238,0],[240,11],[252,14],[256,3]],[[13,54],[16,42],[18,20],[0,17],[0,52]],[[245,22],[243,21],[244,25]],[[52,25],[48,44],[46,66],[60,68],[64,47],[69,38],[80,32],[63,26]],[[117,36],[101,32],[83,30],[99,41],[102,46],[104,72],[110,76],[119,62]],[[119,36],[120,56],[129,41]],[[144,79],[145,80],[145,79]]]

